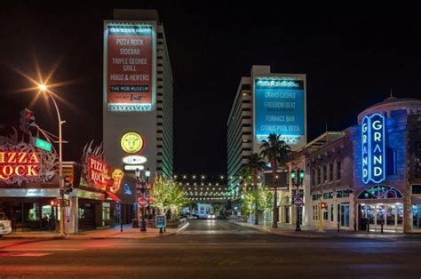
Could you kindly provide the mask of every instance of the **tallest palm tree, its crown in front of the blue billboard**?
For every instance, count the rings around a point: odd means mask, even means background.
[[[285,144],[285,141],[279,140],[281,135],[276,135],[275,133],[269,134],[266,140],[262,140],[260,148],[262,151],[260,155],[264,158],[267,158],[272,168],[272,175],[274,180],[274,216],[272,221],[272,227],[278,227],[278,210],[277,210],[277,195],[276,195],[276,171],[278,170],[278,165],[284,165],[287,161],[288,153],[290,152],[290,147]]]

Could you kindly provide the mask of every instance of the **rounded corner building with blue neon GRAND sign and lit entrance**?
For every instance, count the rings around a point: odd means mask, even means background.
[[[420,233],[421,100],[388,98],[358,116],[354,143],[355,214],[362,231]],[[421,183],[420,183],[421,184]],[[415,186],[415,187],[414,187]]]

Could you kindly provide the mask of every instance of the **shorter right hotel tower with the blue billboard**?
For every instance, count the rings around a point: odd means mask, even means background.
[[[250,77],[240,81],[227,129],[228,193],[235,205],[241,195],[239,173],[249,155],[260,153],[261,140],[276,133],[292,150],[306,145],[306,75],[253,66]]]

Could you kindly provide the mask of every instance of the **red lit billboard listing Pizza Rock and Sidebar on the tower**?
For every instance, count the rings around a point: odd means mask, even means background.
[[[151,111],[155,101],[155,24],[106,21],[104,90],[111,111]]]

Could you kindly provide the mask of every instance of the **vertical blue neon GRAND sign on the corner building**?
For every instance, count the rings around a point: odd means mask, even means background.
[[[362,182],[385,180],[385,116],[364,116],[361,122]]]

